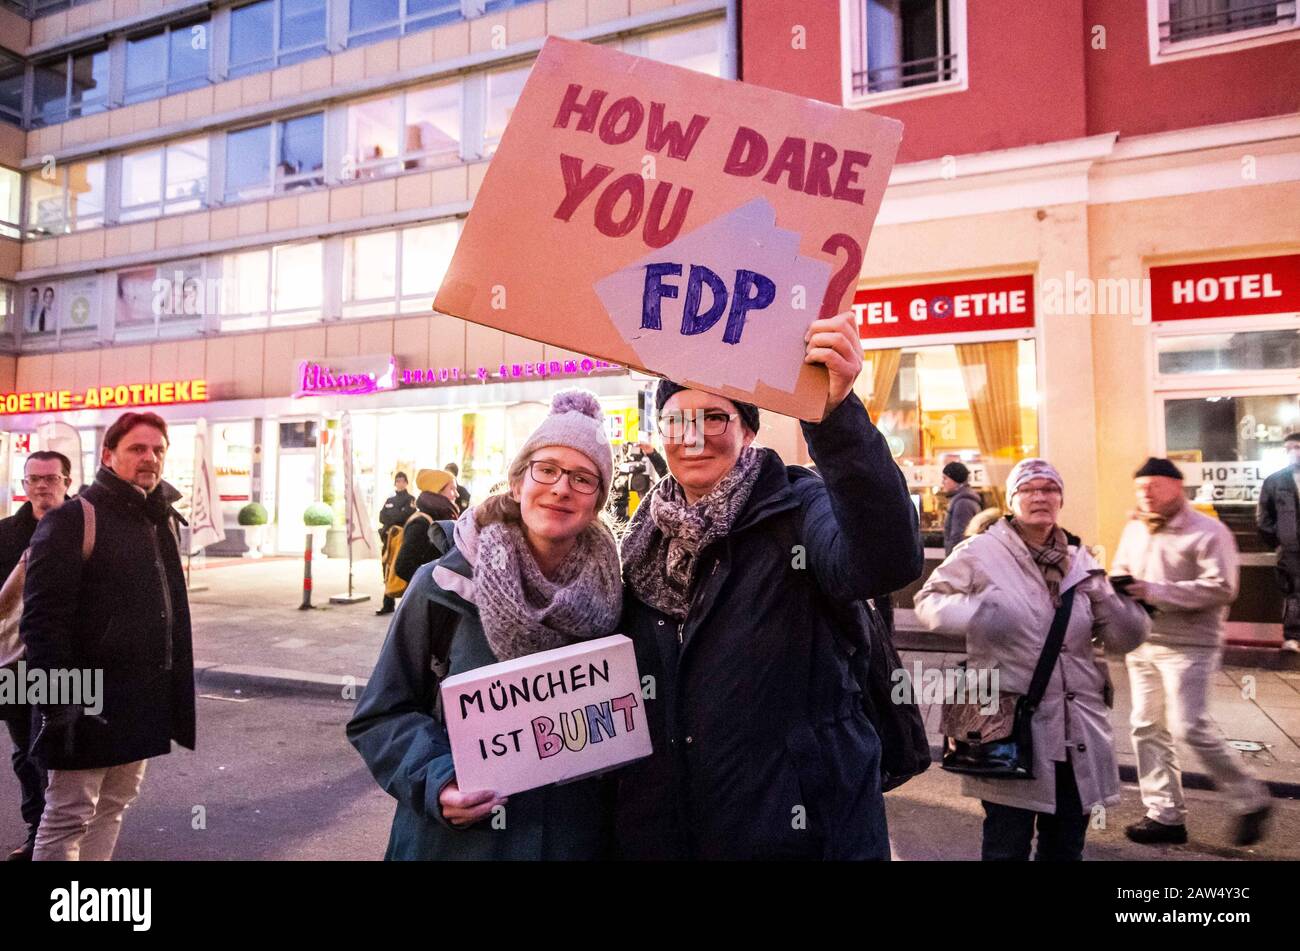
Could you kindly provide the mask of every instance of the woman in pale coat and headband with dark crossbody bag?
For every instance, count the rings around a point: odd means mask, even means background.
[[[1076,589],[1065,642],[1034,715],[1034,780],[962,777],[984,805],[982,857],[1026,860],[1037,828],[1040,860],[1078,860],[1096,807],[1119,803],[1119,768],[1093,640],[1127,653],[1149,631],[1145,612],[1057,518],[1061,474],[1045,460],[1011,469],[1011,514],[959,544],[916,595],[916,617],[966,635],[967,669],[997,669],[998,690],[1027,694],[1061,595]]]

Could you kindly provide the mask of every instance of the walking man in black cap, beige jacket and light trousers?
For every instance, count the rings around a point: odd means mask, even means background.
[[[1236,542],[1226,525],[1188,504],[1183,473],[1167,459],[1148,459],[1134,479],[1138,509],[1119,537],[1112,572],[1131,578],[1127,592],[1154,616],[1150,640],[1126,659],[1147,816],[1124,834],[1145,844],[1187,842],[1174,746],[1182,741],[1227,794],[1236,843],[1249,846],[1264,835],[1269,791],[1209,716],[1210,682],[1223,657],[1223,620],[1238,591]]]

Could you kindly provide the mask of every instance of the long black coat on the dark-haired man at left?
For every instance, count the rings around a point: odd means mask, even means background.
[[[29,669],[103,669],[103,721],[74,717],[70,750],[44,744],[46,767],[134,763],[170,752],[173,739],[192,750],[190,604],[172,508],[181,494],[160,482],[146,498],[100,468],[82,496],[95,507],[90,560],[81,504],[47,513],[31,538],[20,631]]]

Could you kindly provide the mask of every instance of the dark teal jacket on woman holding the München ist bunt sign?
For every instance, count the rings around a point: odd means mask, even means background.
[[[472,569],[452,548],[437,563],[464,577]],[[433,581],[433,564],[415,573],[398,604],[347,738],[380,786],[398,800],[385,859],[595,859],[606,850],[607,804],[598,780],[515,792],[504,828],[493,817],[458,829],[442,817],[438,794],[455,778],[447,728],[434,709],[433,630],[455,624],[447,676],[495,664],[478,609]]]

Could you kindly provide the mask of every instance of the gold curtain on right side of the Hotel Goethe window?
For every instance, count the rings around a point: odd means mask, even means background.
[[[1015,340],[959,343],[957,361],[971,407],[975,438],[998,501],[1002,482],[1020,457],[1020,351]]]

